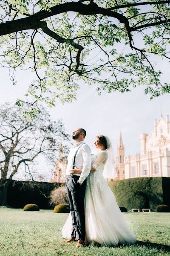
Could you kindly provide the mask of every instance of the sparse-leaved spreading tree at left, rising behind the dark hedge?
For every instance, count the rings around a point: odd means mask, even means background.
[[[68,152],[69,136],[61,120],[51,121],[41,108],[33,122],[20,119],[21,108],[8,103],[0,106],[0,205],[7,204],[7,189],[11,179],[23,169],[33,180],[30,163],[43,155],[50,163],[57,160],[59,145],[64,140]]]

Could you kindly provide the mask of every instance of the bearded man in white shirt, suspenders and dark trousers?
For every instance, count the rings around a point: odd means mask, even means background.
[[[84,143],[85,135],[86,131],[82,128],[77,128],[72,134],[72,138],[76,144],[68,154],[65,179],[73,228],[71,238],[63,242],[68,243],[78,240],[76,247],[82,246],[85,241],[85,186],[86,177],[88,177],[91,170],[91,149]],[[70,175],[69,170],[74,169],[74,167],[82,169],[82,173]]]

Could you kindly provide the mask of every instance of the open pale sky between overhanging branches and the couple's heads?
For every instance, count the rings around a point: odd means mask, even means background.
[[[162,62],[164,81],[168,80],[168,63]],[[13,85],[9,79],[8,70],[0,69],[0,103],[16,102],[22,98],[29,84],[26,72],[17,73],[17,84]],[[139,135],[149,134],[153,129],[154,119],[159,119],[170,113],[170,95],[165,94],[150,100],[149,95],[144,95],[144,87],[133,88],[129,93],[103,92],[98,95],[94,87],[84,84],[78,91],[77,101],[72,103],[57,104],[48,108],[54,120],[62,118],[66,131],[69,134],[76,128],[82,127],[87,131],[85,142],[94,152],[96,135],[108,135],[115,149],[119,141],[119,131],[122,131],[125,155],[136,154],[140,151]]]

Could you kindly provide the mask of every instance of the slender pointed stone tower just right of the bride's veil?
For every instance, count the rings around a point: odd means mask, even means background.
[[[125,179],[125,148],[123,145],[121,131],[119,134],[119,144],[117,146],[116,172],[118,177],[116,177],[115,180]]]

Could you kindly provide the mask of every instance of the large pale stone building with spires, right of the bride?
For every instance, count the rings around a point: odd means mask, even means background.
[[[123,161],[121,156],[125,155],[125,150],[122,134],[120,134],[116,159],[117,180],[134,177],[170,177],[170,121],[168,115],[166,121],[162,115],[159,122],[155,119],[150,135],[140,135],[140,148],[139,154],[129,155]],[[122,175],[123,168],[125,168],[125,176]]]

